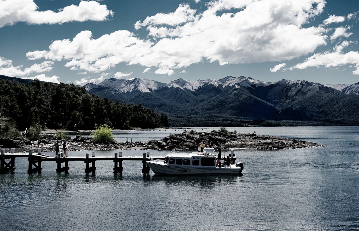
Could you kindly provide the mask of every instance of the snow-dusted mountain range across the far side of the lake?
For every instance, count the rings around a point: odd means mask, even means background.
[[[171,83],[111,78],[84,87],[99,97],[166,113],[170,122],[268,120],[354,125],[359,121],[359,83],[323,85],[287,79],[269,83],[227,76]]]

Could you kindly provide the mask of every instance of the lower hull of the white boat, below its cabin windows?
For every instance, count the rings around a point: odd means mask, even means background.
[[[225,175],[238,175],[242,172],[243,168],[236,167],[233,165],[233,167],[201,167],[201,168],[194,168],[192,166],[187,167],[177,167],[177,166],[169,166],[164,164],[158,164],[150,161],[146,161],[148,166],[150,166],[151,170],[156,174],[180,174],[180,175],[194,175],[194,174],[225,174]]]

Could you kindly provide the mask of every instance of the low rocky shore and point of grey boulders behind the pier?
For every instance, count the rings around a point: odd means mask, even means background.
[[[181,134],[174,134],[164,137],[161,140],[150,140],[148,142],[112,142],[98,143],[92,138],[76,136],[74,139],[68,138],[67,145],[70,151],[78,150],[117,150],[117,149],[143,149],[143,150],[171,150],[173,148],[182,150],[197,150],[202,140],[209,138],[212,147],[215,149],[246,148],[257,150],[278,150],[290,148],[308,148],[322,146],[318,143],[295,140],[290,138],[257,135],[255,133],[237,133],[229,131],[214,130],[211,132],[184,131]],[[41,148],[43,152],[55,150],[53,140],[50,136],[43,137],[38,141],[29,141],[24,137],[14,139],[1,138],[0,146],[6,152],[10,148],[17,148],[17,151],[27,151],[29,149]]]

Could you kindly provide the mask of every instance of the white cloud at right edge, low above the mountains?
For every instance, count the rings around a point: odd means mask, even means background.
[[[343,48],[350,44],[348,41],[342,42],[336,46],[333,52],[323,52],[314,54],[313,56],[306,59],[302,63],[290,67],[289,70],[293,69],[306,69],[308,67],[338,67],[344,65],[353,65],[356,69],[352,72],[354,75],[359,75],[359,53],[357,51],[350,51],[344,53]]]

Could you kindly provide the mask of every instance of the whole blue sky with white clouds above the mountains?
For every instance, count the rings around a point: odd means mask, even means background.
[[[359,0],[0,0],[0,74],[359,82]]]

